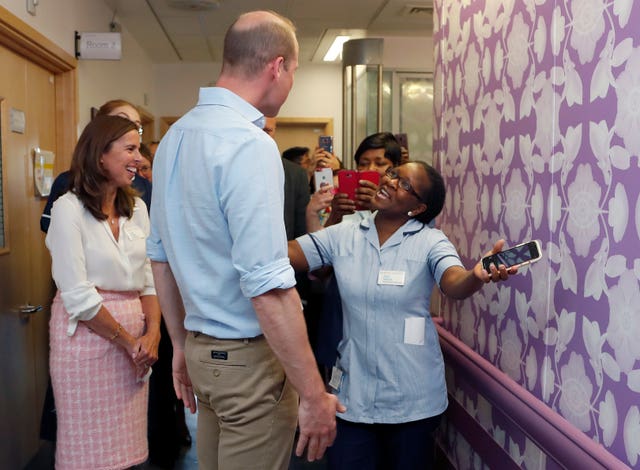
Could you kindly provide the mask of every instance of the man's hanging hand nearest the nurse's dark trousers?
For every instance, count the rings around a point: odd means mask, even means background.
[[[296,455],[301,457],[306,447],[309,462],[321,459],[336,438],[336,412],[345,411],[347,409],[338,401],[338,397],[330,393],[324,392],[319,400],[314,401],[301,397],[298,410],[300,436]]]

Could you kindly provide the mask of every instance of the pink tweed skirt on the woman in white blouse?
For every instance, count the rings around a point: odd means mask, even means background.
[[[145,328],[137,292],[100,291],[103,305],[134,337]],[[67,336],[60,294],[51,307],[49,366],[58,416],[57,469],[122,469],[148,456],[148,382],[125,350],[84,322]]]

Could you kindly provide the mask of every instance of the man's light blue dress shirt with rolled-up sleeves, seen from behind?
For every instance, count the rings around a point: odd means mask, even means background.
[[[260,111],[201,88],[153,162],[152,261],[169,262],[185,328],[217,338],[261,334],[251,298],[295,285],[283,221],[284,172]]]

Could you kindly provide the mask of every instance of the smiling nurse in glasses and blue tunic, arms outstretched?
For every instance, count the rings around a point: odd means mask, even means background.
[[[430,468],[432,432],[447,407],[444,362],[429,302],[437,283],[463,299],[516,272],[467,270],[447,237],[429,227],[445,200],[442,177],[423,162],[388,169],[360,223],[289,242],[296,270],[333,266],[343,338],[329,385],[347,411],[329,468]],[[490,253],[500,251],[498,241]]]

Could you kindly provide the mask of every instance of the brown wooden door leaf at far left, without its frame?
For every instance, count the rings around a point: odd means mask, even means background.
[[[44,200],[33,183],[33,149],[56,150],[54,76],[0,49],[5,246],[0,255],[1,454],[21,468],[38,445],[47,384],[51,264],[40,232]],[[24,133],[11,130],[11,114],[25,117]],[[23,306],[42,306],[21,313]],[[6,433],[6,434],[5,434]],[[4,459],[3,459],[4,460]],[[5,460],[7,462],[7,460]]]

